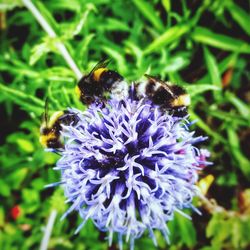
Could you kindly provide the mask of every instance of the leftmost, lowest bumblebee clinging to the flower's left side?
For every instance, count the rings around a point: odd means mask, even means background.
[[[63,148],[61,141],[61,130],[63,125],[76,125],[78,118],[76,114],[68,110],[57,111],[51,118],[48,118],[48,104],[45,103],[44,122],[40,128],[40,143],[46,148],[59,149]]]

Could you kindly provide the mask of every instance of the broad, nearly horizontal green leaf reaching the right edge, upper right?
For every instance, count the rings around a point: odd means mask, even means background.
[[[250,54],[250,45],[248,43],[229,36],[217,34],[204,27],[196,27],[191,37],[196,42],[207,44],[215,48]]]

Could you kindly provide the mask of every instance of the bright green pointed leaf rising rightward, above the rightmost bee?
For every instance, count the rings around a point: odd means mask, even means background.
[[[159,51],[166,45],[180,40],[180,38],[190,30],[190,25],[176,25],[167,29],[162,35],[157,37],[148,47],[144,50],[145,54],[149,54],[153,51]]]

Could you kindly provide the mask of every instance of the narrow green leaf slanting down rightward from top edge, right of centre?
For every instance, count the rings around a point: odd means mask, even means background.
[[[152,3],[150,4],[144,0],[133,0],[133,2],[142,15],[155,27],[156,30],[164,30],[162,21],[156,14],[157,10],[153,8]]]

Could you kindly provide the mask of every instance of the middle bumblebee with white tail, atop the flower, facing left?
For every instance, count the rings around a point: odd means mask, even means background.
[[[83,104],[112,98],[124,98],[128,93],[128,84],[116,71],[107,68],[109,61],[102,60],[95,65],[89,74],[83,76],[76,86],[76,93]]]

